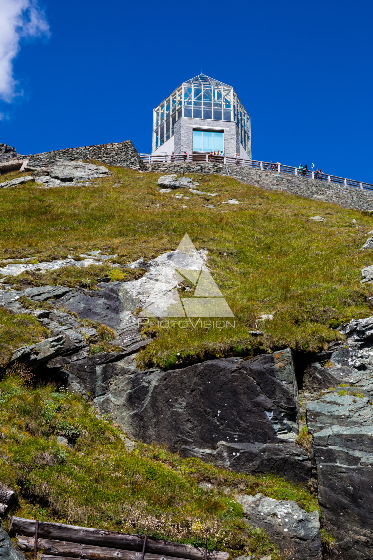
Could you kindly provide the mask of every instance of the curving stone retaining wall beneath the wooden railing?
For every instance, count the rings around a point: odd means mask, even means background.
[[[188,174],[226,175],[225,166],[217,163],[154,163],[149,164],[147,167],[149,171],[164,174],[172,174],[184,170]],[[342,206],[342,208],[373,211],[373,191],[354,189],[350,186],[327,183],[327,181],[318,181],[316,179],[306,179],[299,176],[286,175],[285,173],[280,174],[276,171],[260,171],[238,165],[228,165],[227,167],[231,177],[238,179],[242,183],[257,186],[259,189],[282,190],[285,193],[296,194],[299,197],[337,204]]]

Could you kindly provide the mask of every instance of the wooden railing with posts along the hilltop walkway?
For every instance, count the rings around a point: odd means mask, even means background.
[[[273,173],[285,173],[286,175],[300,176],[307,179],[314,179],[323,181],[324,183],[334,183],[341,186],[351,186],[354,189],[373,190],[373,185],[370,183],[362,183],[353,179],[344,179],[336,175],[326,175],[320,171],[311,171],[305,169],[298,169],[298,167],[290,167],[289,165],[274,164],[272,161],[254,161],[245,160],[242,158],[226,157],[226,156],[213,156],[209,153],[193,153],[193,154],[175,154],[168,155],[154,154],[154,153],[140,153],[139,156],[147,164],[155,163],[187,163],[187,162],[206,162],[221,165],[234,165],[239,167],[247,167],[248,169],[256,169],[257,171],[271,171]]]

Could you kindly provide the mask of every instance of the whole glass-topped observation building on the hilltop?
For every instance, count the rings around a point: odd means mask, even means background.
[[[183,150],[251,158],[250,117],[232,86],[200,74],[154,109],[153,153]]]

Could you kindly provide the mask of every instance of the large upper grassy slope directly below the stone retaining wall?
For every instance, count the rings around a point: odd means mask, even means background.
[[[341,338],[335,330],[339,324],[371,315],[367,296],[373,288],[358,281],[361,268],[372,264],[371,251],[360,251],[372,217],[223,176],[194,175],[200,190],[218,196],[182,190],[190,200],[178,200],[179,190],[157,191],[158,174],[110,169],[113,175],[94,181],[95,186],[40,189],[31,183],[0,191],[0,258],[32,256],[40,262],[100,249],[117,253],[125,264],[174,250],[187,233],[197,249],[207,249],[235,328],[152,326],[155,338],[139,353],[140,367],[285,347],[317,351]],[[242,204],[221,204],[229,198]],[[208,199],[214,209],[202,207]],[[315,215],[325,221],[309,220]],[[83,269],[75,272],[79,278],[55,273],[45,281],[84,286],[87,279],[94,287],[98,268],[91,276]],[[41,276],[31,281],[41,282]],[[265,334],[253,338],[248,332],[262,314],[275,319],[258,323]]]

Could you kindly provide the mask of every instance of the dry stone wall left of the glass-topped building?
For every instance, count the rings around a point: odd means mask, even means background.
[[[83,146],[82,148],[36,153],[27,156],[27,159],[30,167],[49,167],[58,160],[98,160],[104,165],[130,167],[130,169],[140,171],[147,170],[143,160],[129,140],[118,144],[100,144],[100,146]]]

